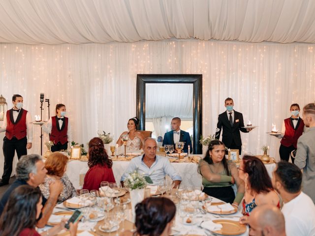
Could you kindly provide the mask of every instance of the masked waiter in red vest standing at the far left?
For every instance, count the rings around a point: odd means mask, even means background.
[[[27,149],[32,148],[31,114],[22,108],[23,97],[21,95],[14,94],[12,103],[13,108],[6,112],[0,128],[0,132],[5,131],[3,139],[4,168],[0,186],[9,183],[15,151],[18,159],[20,159],[21,156],[28,154]]]

